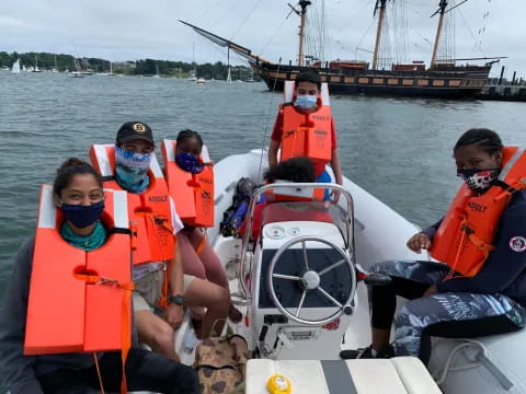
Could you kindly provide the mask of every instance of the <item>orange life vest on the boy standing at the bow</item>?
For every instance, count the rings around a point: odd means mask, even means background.
[[[329,105],[321,105],[312,114],[301,114],[294,105],[284,104],[281,112],[283,134],[279,161],[298,157],[331,161],[332,115]]]

